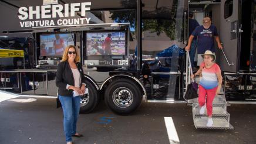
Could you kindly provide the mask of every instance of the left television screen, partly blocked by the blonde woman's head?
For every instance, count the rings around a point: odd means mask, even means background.
[[[40,35],[40,56],[62,56],[65,47],[74,45],[72,33]]]

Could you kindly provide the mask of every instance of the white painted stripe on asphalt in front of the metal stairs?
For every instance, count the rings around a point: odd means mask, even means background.
[[[166,130],[168,133],[168,138],[169,138],[170,144],[180,143],[180,139],[178,139],[178,134],[177,134],[176,128],[173,123],[173,118],[164,117],[164,122],[166,123]]]

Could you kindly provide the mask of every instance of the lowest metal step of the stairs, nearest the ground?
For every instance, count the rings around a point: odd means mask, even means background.
[[[213,118],[213,126],[206,126],[208,117],[196,117],[194,118],[194,125],[196,128],[204,128],[204,129],[234,129],[234,127],[227,121],[225,118],[212,117]]]

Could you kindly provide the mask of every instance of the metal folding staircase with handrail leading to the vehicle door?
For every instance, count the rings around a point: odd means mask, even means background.
[[[188,57],[189,54],[187,53]],[[189,66],[190,61],[187,60],[186,87],[190,83],[190,73],[192,71]],[[198,83],[199,77],[196,77],[195,81]],[[192,105],[194,126],[197,129],[234,129],[230,124],[230,114],[227,112],[227,101],[225,100],[223,88],[221,88],[220,94],[216,95],[213,101],[213,115],[211,116],[213,118],[213,126],[211,127],[206,126],[208,121],[207,109],[204,114],[199,113],[198,98],[187,100],[187,103],[188,105]]]

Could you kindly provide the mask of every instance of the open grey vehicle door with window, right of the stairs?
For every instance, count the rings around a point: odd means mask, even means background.
[[[240,68],[240,0],[221,1],[220,39],[223,52],[220,53],[222,71],[237,73]],[[230,63],[230,64],[228,64]]]

